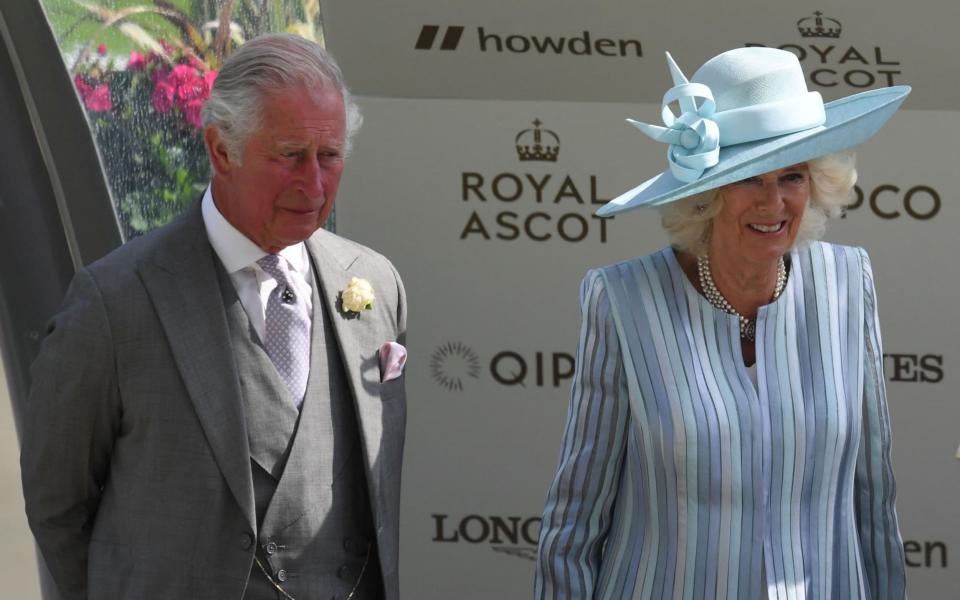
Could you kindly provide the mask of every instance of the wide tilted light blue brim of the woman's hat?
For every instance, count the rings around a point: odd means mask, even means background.
[[[720,149],[720,160],[696,181],[676,179],[664,171],[601,206],[608,217],[641,206],[660,206],[694,194],[852,148],[870,139],[910,93],[899,85],[869,90],[824,105],[823,125],[776,138]]]

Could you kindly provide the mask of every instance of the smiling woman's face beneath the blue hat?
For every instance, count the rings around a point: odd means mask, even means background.
[[[810,199],[806,163],[731,183],[720,189],[723,208],[713,218],[710,254],[756,263],[790,251]]]

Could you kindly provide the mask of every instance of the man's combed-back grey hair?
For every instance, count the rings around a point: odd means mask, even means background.
[[[296,88],[340,93],[346,113],[344,151],[348,153],[363,123],[360,108],[333,57],[319,44],[290,33],[254,38],[224,61],[203,105],[203,126],[217,127],[230,158],[239,161],[243,145],[261,126],[263,98]]]

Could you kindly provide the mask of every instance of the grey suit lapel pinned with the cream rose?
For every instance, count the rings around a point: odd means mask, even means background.
[[[380,401],[380,366],[376,351],[381,340],[377,339],[377,328],[370,319],[347,319],[340,310],[340,291],[351,277],[357,276],[351,269],[358,255],[345,252],[340,244],[325,243],[318,239],[320,237],[315,235],[307,240],[307,248],[317,270],[320,296],[330,315],[349,389],[356,403],[370,502],[374,519],[379,522],[377,502],[381,498],[379,469],[382,461],[378,458],[383,437],[383,405]]]

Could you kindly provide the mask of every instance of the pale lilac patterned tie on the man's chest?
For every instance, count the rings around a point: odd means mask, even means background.
[[[298,298],[290,284],[287,261],[268,254],[257,261],[277,281],[270,292],[264,327],[263,345],[283,378],[293,403],[300,408],[310,372],[310,316],[307,303]]]

